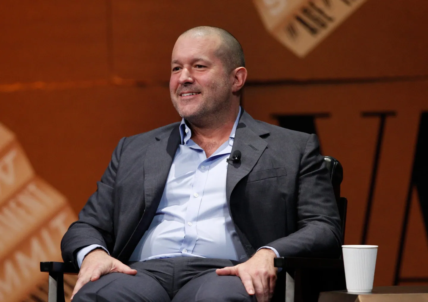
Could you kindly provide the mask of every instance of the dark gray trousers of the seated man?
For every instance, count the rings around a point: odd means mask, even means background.
[[[113,272],[89,281],[73,302],[255,302],[237,276],[218,276],[217,268],[236,261],[199,257],[131,262],[137,275]]]

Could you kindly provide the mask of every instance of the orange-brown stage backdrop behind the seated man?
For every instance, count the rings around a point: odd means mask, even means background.
[[[4,0],[0,122],[78,213],[122,136],[179,120],[167,84],[178,35],[223,27],[244,48],[243,106],[254,118],[277,124],[274,115],[329,114],[315,126],[323,153],[344,166],[348,244],[360,243],[364,229],[380,124],[362,113],[395,113],[385,122],[367,228],[367,243],[379,245],[375,285],[390,285],[420,117],[428,111],[427,15],[425,1],[369,0],[299,59],[266,32],[250,0]],[[427,256],[413,194],[401,284],[428,282]]]

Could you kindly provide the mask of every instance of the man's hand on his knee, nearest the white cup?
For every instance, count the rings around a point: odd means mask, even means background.
[[[248,294],[256,294],[258,302],[268,302],[273,296],[278,271],[273,266],[275,257],[276,254],[271,249],[260,249],[244,263],[217,269],[216,273],[219,276],[238,276]]]

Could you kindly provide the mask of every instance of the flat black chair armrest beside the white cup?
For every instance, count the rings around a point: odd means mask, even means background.
[[[343,259],[277,257],[275,267],[284,269],[343,269]]]

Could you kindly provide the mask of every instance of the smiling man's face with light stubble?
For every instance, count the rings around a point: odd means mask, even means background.
[[[172,104],[186,119],[229,108],[232,85],[223,63],[214,56],[220,37],[184,35],[172,50],[169,91]]]

